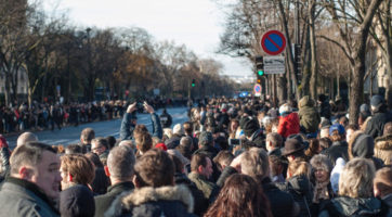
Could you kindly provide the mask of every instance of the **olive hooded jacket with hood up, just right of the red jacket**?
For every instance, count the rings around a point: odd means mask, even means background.
[[[314,107],[314,101],[309,95],[305,95],[300,100],[298,106],[301,127],[305,129],[305,132],[316,132],[321,117]]]

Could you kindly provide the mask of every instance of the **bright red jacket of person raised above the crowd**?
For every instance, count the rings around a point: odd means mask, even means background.
[[[290,135],[300,132],[300,118],[296,112],[279,117],[279,126],[277,126],[277,133],[287,138]]]

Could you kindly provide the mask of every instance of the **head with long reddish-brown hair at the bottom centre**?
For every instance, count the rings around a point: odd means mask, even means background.
[[[228,177],[205,217],[272,217],[270,202],[253,178],[235,174]]]

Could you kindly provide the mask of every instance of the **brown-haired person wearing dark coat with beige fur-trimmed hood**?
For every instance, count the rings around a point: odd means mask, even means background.
[[[114,201],[107,216],[194,216],[192,193],[173,186],[174,164],[168,153],[152,149],[134,166],[135,190]]]

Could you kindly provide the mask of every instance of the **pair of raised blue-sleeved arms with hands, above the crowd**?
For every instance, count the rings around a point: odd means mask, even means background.
[[[138,117],[136,117],[136,102],[130,104],[127,108],[127,113],[122,117],[121,128],[120,128],[120,140],[131,140],[133,139],[133,129],[136,126]],[[160,126],[159,117],[155,114],[155,110],[147,102],[143,103],[143,107],[152,115],[152,124],[153,124],[153,137],[162,138],[162,127]]]

